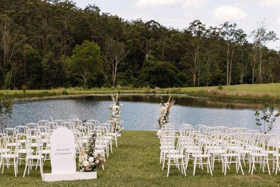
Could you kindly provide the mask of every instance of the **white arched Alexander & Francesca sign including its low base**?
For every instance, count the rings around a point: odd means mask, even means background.
[[[96,179],[96,172],[76,172],[75,138],[68,128],[54,130],[50,139],[52,172],[42,174],[44,181]]]

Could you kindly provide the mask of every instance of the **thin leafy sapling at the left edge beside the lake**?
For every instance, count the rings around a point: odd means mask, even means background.
[[[2,132],[7,128],[9,119],[12,119],[12,98],[0,97],[0,126]]]

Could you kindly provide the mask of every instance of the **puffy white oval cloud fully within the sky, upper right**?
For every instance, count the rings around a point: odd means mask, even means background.
[[[248,12],[231,5],[222,5],[213,11],[214,18],[218,21],[245,19]]]

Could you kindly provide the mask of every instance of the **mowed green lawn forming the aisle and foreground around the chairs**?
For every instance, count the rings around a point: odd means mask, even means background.
[[[169,177],[166,178],[167,166],[162,171],[159,164],[159,139],[155,132],[151,131],[124,131],[123,137],[118,139],[118,148],[113,148],[113,153],[106,160],[105,171],[97,170],[97,179],[76,180],[61,182],[43,182],[39,170],[31,170],[30,175],[22,178],[24,165],[19,167],[19,174],[14,176],[12,168],[5,168],[4,174],[0,174],[0,186],[280,186],[280,173],[268,175],[259,170],[254,175],[248,174],[249,166],[243,167],[245,175],[236,174],[235,165],[227,175],[222,174],[222,165],[215,162],[213,176],[204,170],[197,169],[192,175],[193,165],[189,162],[186,171],[187,176],[171,166]],[[270,164],[272,171],[272,163]],[[2,170],[1,170],[2,171]],[[50,162],[45,162],[44,173],[51,172]]]

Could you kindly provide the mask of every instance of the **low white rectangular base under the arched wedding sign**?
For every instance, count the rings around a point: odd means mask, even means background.
[[[47,182],[61,181],[61,180],[83,180],[83,179],[96,179],[97,173],[93,172],[75,172],[67,174],[42,174],[42,180]]]

